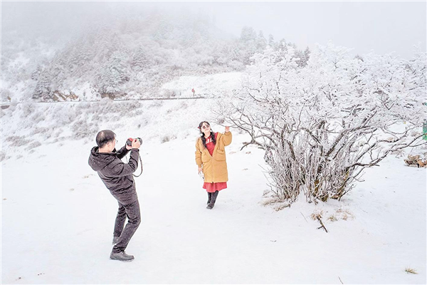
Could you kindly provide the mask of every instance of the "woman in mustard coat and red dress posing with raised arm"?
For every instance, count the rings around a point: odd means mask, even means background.
[[[212,209],[218,192],[226,189],[228,181],[225,147],[231,144],[230,127],[225,133],[214,133],[208,122],[199,124],[200,138],[196,142],[196,164],[204,174],[203,188],[208,192],[207,209]]]

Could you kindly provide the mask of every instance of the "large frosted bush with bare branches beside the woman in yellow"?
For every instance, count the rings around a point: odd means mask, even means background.
[[[297,60],[289,46],[256,54],[241,90],[218,108],[251,135],[248,144],[265,150],[280,199],[291,203],[301,191],[309,202],[339,199],[365,168],[426,143],[426,53],[361,61],[329,43],[317,46],[307,65]]]

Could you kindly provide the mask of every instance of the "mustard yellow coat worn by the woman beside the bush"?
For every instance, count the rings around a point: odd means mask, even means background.
[[[209,150],[204,147],[201,138],[196,142],[196,164],[199,167],[203,165],[204,182],[227,182],[227,162],[225,147],[231,144],[233,136],[231,132],[218,133],[216,135],[216,145],[212,155]]]

